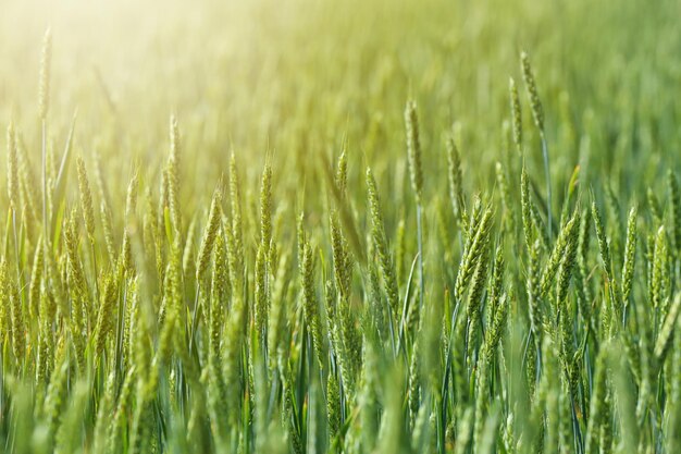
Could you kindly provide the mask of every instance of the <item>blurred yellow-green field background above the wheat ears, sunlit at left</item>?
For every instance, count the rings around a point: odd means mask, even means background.
[[[159,172],[175,112],[184,147],[196,158],[185,160],[185,189],[206,197],[231,149],[257,163],[253,177],[270,150],[275,167],[286,169],[282,174],[309,181],[314,156],[337,155],[343,137],[351,162],[370,163],[380,180],[399,186],[403,107],[413,97],[426,174],[437,180],[426,184],[433,194],[444,179],[428,170],[445,162],[442,135],[455,121],[462,126],[468,184],[479,186],[492,175],[490,164],[504,159],[508,77],[520,78],[518,54],[527,50],[557,187],[581,159],[582,174],[610,172],[615,189],[629,197],[640,189],[631,172],[649,181],[678,152],[680,7],[673,0],[8,1],[0,14],[0,123],[13,118],[38,152],[40,40],[50,26],[50,136],[63,144],[77,110],[76,150],[101,154],[112,180],[127,181],[133,161]],[[581,140],[586,136],[590,147]],[[538,170],[536,150],[529,165]],[[294,191],[299,180],[277,184]],[[123,196],[125,185],[113,191]]]

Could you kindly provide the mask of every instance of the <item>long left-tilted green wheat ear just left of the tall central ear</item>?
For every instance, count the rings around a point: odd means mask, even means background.
[[[385,235],[385,226],[381,214],[381,200],[376,189],[376,182],[373,179],[371,169],[367,169],[367,186],[369,193],[369,211],[371,212],[371,235],[375,250],[379,253],[381,262],[381,271],[383,273],[383,283],[391,306],[394,320],[399,317],[399,291],[397,287],[397,277],[395,272],[395,263],[391,254],[391,248]],[[392,320],[393,321],[393,320]]]

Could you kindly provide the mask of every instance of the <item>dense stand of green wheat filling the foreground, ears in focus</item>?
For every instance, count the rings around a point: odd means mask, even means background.
[[[409,101],[394,134],[414,216],[343,149],[319,165],[322,195],[306,194],[323,212],[304,200],[287,218],[276,168],[249,194],[234,155],[210,204],[185,208],[174,118],[160,188],[136,172],[115,200],[120,182],[72,159],[74,124],[61,156],[46,145],[50,48],[48,33],[39,168],[18,126],[7,132],[5,452],[681,450],[677,176],[628,216],[607,182],[584,191],[579,168],[553,198],[527,54],[541,147],[523,142],[511,79],[515,150],[494,191],[467,193],[456,125],[438,158],[448,201],[429,197]],[[545,194],[525,167],[536,156]]]

